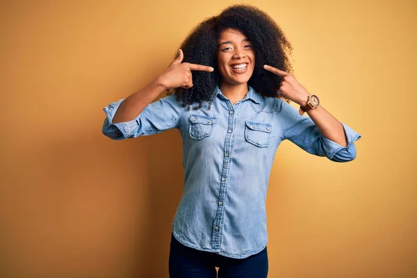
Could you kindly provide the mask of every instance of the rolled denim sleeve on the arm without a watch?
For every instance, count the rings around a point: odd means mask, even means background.
[[[124,99],[112,102],[103,108],[106,118],[102,126],[105,136],[113,140],[136,138],[160,133],[178,126],[181,105],[175,95],[168,95],[152,102],[143,111],[128,122],[113,124],[113,117]]]

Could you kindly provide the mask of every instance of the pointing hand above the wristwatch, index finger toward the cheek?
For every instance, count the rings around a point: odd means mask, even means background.
[[[276,67],[271,67],[270,65],[263,65],[263,68],[283,77],[281,86],[279,87],[281,95],[284,95],[287,99],[301,106],[307,104],[307,97],[311,94],[295,79],[293,74],[278,70]]]

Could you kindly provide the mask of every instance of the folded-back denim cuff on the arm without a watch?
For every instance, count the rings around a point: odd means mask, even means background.
[[[120,131],[124,138],[127,138],[134,129],[138,126],[138,121],[135,119],[130,120],[129,122],[117,122],[113,124],[113,117],[115,116],[115,113],[117,112],[117,109],[119,108],[120,104],[122,104],[122,101],[124,99],[120,99],[119,101],[112,102],[111,104],[108,104],[108,106],[103,108],[104,113],[106,113],[107,119],[104,122],[103,126],[103,133],[106,135],[113,134],[113,137],[115,137],[115,133],[117,131]]]

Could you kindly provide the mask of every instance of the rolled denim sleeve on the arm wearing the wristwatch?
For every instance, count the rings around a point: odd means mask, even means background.
[[[297,109],[290,104],[278,99],[279,119],[282,126],[284,139],[288,139],[304,151],[316,156],[326,156],[331,161],[347,162],[356,158],[357,150],[354,141],[361,135],[350,126],[342,123],[347,140],[347,146],[325,138],[320,133],[318,126],[310,117],[300,115]]]

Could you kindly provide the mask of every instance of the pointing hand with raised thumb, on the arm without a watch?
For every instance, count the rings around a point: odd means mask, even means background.
[[[193,87],[193,74],[192,70],[199,70],[203,72],[213,72],[213,67],[206,65],[198,65],[192,63],[181,63],[183,60],[183,51],[179,49],[179,55],[172,63],[167,67],[165,72],[158,76],[158,81],[166,90],[174,88],[191,88]]]

